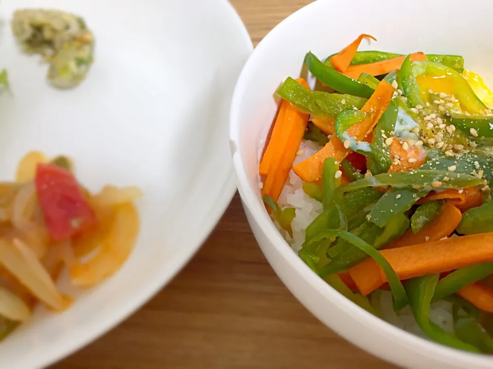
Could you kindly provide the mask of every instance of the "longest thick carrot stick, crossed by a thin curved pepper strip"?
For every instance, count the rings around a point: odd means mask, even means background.
[[[399,279],[448,272],[493,261],[493,233],[481,233],[379,251]],[[387,281],[382,268],[367,259],[348,270],[363,295]]]

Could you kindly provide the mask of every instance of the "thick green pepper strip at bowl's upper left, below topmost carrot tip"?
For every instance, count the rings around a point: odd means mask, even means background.
[[[311,52],[305,56],[305,63],[308,66],[308,70],[320,82],[325,83],[327,86],[339,91],[340,93],[366,98],[373,94],[373,89],[359,83],[353,78],[345,76],[344,74],[327,67]]]

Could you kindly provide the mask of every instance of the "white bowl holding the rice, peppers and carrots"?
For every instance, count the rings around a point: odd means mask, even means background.
[[[492,12],[493,3],[484,0],[318,0],[283,20],[262,40],[233,95],[230,137],[238,190],[264,255],[318,319],[364,350],[405,367],[491,368],[493,357],[453,350],[367,313],[333,290],[292,251],[265,211],[258,189],[259,158],[277,110],[273,96],[286,77],[300,75],[308,51],[326,57],[360,33],[378,39],[371,45],[373,50],[463,55],[466,68],[493,81],[493,43],[486,36]]]

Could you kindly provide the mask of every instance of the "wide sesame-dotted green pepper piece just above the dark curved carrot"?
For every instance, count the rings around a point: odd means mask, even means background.
[[[384,227],[394,215],[408,211],[416,201],[426,196],[427,193],[428,191],[419,191],[410,187],[392,188],[378,200],[368,214],[368,220],[378,227]]]

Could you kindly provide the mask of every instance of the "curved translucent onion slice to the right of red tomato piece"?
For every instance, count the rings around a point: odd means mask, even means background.
[[[115,221],[98,254],[86,263],[70,268],[72,283],[89,287],[117,272],[134,249],[138,233],[139,215],[135,205],[128,202],[118,206]]]

